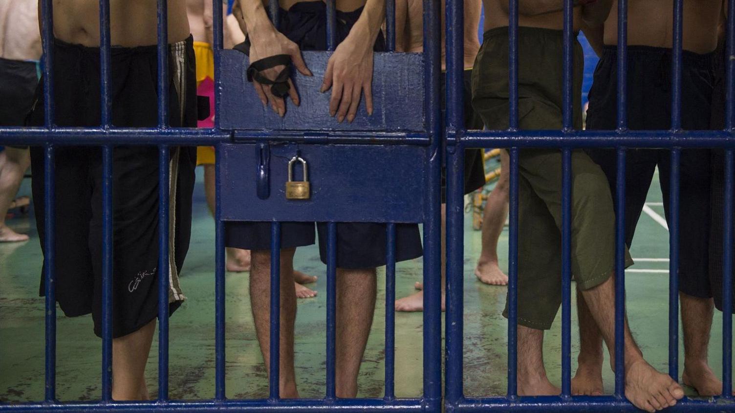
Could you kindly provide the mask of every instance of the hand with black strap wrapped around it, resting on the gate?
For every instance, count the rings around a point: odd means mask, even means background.
[[[265,29],[262,32],[259,32],[257,37],[251,35],[250,39],[251,62],[257,62],[258,60],[276,56],[278,54],[287,54],[291,57],[293,66],[297,71],[299,71],[299,73],[304,76],[313,76],[312,72],[309,71],[309,68],[306,68],[306,62],[304,62],[304,57],[301,57],[301,50],[298,49],[296,43],[293,43],[288,39],[288,37],[282,35],[282,33],[278,32],[276,29],[273,29],[273,26],[271,26],[270,30]],[[260,73],[268,79],[276,79],[276,76],[278,76],[284,68],[286,68],[286,66],[277,65],[273,66],[273,68],[260,71]],[[255,87],[255,91],[258,93],[263,106],[270,103],[270,107],[273,108],[273,112],[278,113],[280,116],[286,114],[284,98],[275,96],[270,90],[270,85],[262,85],[254,80],[253,86]],[[296,88],[293,86],[291,79],[288,79],[288,86],[288,95],[291,98],[291,101],[293,101],[293,104],[298,106],[298,93],[296,92]]]

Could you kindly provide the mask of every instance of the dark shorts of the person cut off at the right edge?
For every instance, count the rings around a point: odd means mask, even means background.
[[[725,129],[725,47],[720,45],[717,53],[717,76],[712,96],[711,129]],[[725,151],[713,149],[711,158],[711,226],[709,235],[709,281],[714,306],[723,310],[723,229],[725,208]],[[731,254],[735,254],[735,245]],[[735,278],[734,274],[730,275]],[[735,298],[735,288],[733,289]],[[735,301],[734,301],[735,302]],[[735,313],[735,309],[733,309]]]

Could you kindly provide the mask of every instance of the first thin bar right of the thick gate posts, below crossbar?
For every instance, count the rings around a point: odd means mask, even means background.
[[[513,4],[514,1],[511,1]],[[508,398],[517,398],[518,337],[518,148],[510,150],[508,232]]]

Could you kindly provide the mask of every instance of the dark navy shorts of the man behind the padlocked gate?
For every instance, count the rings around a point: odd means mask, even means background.
[[[351,11],[337,10],[337,41],[345,40],[355,24],[362,7]],[[279,28],[301,50],[326,50],[326,4],[322,1],[304,1],[279,13]],[[373,47],[385,50],[382,34]],[[326,264],[326,223],[317,224],[319,255]],[[417,224],[395,226],[395,259],[405,261],[421,254],[421,236]],[[287,222],[281,226],[281,248],[312,245],[315,241],[314,223]],[[225,223],[225,244],[248,250],[270,250],[270,223]],[[384,223],[337,223],[337,267],[373,268],[385,265],[386,226]]]

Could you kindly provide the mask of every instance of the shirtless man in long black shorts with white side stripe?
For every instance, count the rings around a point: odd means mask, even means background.
[[[15,2],[15,1],[13,1]],[[40,8],[40,1],[39,1]],[[54,0],[54,108],[58,126],[99,126],[97,1]],[[157,16],[150,0],[111,0],[112,124],[154,127],[157,115]],[[186,5],[168,1],[169,124],[196,126],[194,51]],[[129,49],[135,48],[135,49]],[[43,80],[42,80],[43,82]],[[44,123],[43,87],[29,124]],[[33,195],[44,240],[43,148],[31,150]],[[56,299],[65,315],[92,313],[101,336],[101,148],[58,147],[56,162]],[[115,146],[112,153],[112,398],[148,398],[145,369],[158,312],[158,149]],[[184,300],[178,274],[189,247],[196,148],[171,148],[170,312]],[[47,256],[49,251],[43,251]],[[44,262],[49,265],[49,262]],[[43,295],[43,278],[40,291]]]

